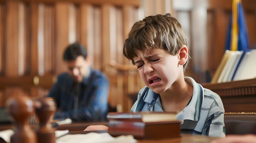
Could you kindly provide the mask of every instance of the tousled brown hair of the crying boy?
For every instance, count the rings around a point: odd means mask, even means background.
[[[123,53],[134,64],[133,58],[137,56],[137,50],[159,48],[171,55],[176,55],[183,45],[187,46],[188,44],[182,26],[177,19],[170,13],[158,14],[148,16],[132,26],[128,38],[125,40]],[[188,61],[189,59],[183,65],[183,70],[186,69]]]

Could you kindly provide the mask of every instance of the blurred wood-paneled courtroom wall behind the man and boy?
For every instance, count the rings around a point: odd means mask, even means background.
[[[256,42],[256,0],[241,0]],[[67,71],[63,50],[81,42],[110,79],[109,103],[128,112],[143,83],[122,53],[137,20],[171,13],[183,26],[191,61],[185,75],[211,81],[225,51],[232,0],[0,0],[0,107],[10,95],[47,95]]]

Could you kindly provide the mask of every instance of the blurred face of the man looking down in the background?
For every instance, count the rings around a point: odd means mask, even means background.
[[[85,77],[90,74],[90,58],[84,59],[83,56],[78,56],[75,60],[65,61],[68,68],[68,73],[77,82],[82,82]]]

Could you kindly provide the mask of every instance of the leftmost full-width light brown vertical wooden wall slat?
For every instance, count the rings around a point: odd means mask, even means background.
[[[6,9],[6,48],[5,75],[7,77],[20,75],[19,71],[19,2],[8,1]],[[23,21],[24,22],[24,21]]]

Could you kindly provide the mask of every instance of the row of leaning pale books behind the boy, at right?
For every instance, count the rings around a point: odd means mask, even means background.
[[[211,83],[253,79],[256,77],[256,49],[226,50]]]

